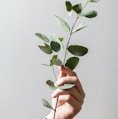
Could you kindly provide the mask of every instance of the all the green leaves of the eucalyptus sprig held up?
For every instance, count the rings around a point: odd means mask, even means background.
[[[44,65],[52,68],[55,77],[55,65],[64,65],[71,70],[74,70],[78,66],[78,63],[80,61],[79,57],[84,56],[88,53],[88,48],[80,45],[70,45],[70,41],[72,40],[72,35],[74,33],[78,33],[80,30],[87,27],[87,24],[85,22],[79,22],[79,25],[77,25],[78,20],[81,17],[95,18],[97,16],[97,12],[95,10],[85,11],[85,7],[89,3],[97,3],[98,1],[99,0],[86,0],[86,3],[84,5],[82,3],[72,4],[70,1],[65,1],[65,7],[68,15],[71,17],[73,17],[73,13],[75,15],[75,21],[73,22],[72,26],[67,23],[67,20],[62,19],[57,15],[54,16],[54,19],[58,26],[68,33],[68,39],[66,38],[65,40],[64,37],[57,37],[57,35],[54,33],[51,34],[49,38],[42,33],[35,33],[35,35],[40,38],[44,44],[38,46],[40,50],[43,51],[45,54],[50,55],[50,63],[46,63]],[[66,43],[64,42],[64,40]],[[64,53],[64,60],[60,59],[61,53]],[[70,55],[72,56],[69,55],[67,59],[68,53],[70,53]],[[46,84],[52,90],[68,90],[75,86],[75,84],[64,84],[62,86],[55,87],[54,82],[51,80],[46,81]],[[56,107],[53,109],[51,104],[47,100],[42,99],[42,103],[45,107],[52,109],[54,113],[56,112]]]

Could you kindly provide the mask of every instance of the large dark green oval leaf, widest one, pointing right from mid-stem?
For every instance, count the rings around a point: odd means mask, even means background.
[[[68,47],[68,51],[76,56],[83,56],[88,52],[88,49],[83,46],[71,45]]]

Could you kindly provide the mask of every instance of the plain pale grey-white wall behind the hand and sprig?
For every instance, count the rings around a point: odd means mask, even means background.
[[[76,119],[118,119],[117,4],[117,0],[101,0],[89,5],[99,15],[82,19],[88,27],[71,42],[89,48],[76,69],[86,92]],[[0,0],[0,119],[42,119],[48,114],[41,98],[51,101],[45,81],[54,77],[50,68],[41,65],[48,57],[38,49],[41,42],[34,34],[68,38],[54,22],[55,14],[73,22],[64,0]]]

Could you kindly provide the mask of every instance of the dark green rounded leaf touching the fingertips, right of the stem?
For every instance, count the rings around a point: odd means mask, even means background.
[[[71,57],[66,61],[65,66],[73,70],[77,66],[78,63],[79,63],[78,57]]]

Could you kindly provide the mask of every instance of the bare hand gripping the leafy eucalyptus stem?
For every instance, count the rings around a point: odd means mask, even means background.
[[[74,83],[75,86],[69,90],[56,89],[51,95],[53,107],[55,107],[57,97],[59,97],[55,119],[72,119],[80,112],[84,102],[85,93],[78,76],[69,68],[60,66],[55,86],[58,87],[66,83]],[[46,118],[53,119],[53,115],[54,111],[51,111]]]

